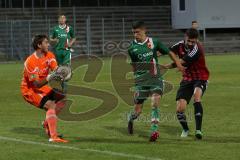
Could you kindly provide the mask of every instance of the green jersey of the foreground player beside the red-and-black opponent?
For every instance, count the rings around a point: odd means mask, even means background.
[[[142,80],[152,77],[162,78],[157,51],[161,54],[169,54],[169,49],[155,38],[148,37],[143,43],[138,43],[136,40],[132,42],[128,54],[134,68],[135,78]]]

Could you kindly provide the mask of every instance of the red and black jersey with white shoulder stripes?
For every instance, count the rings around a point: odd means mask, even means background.
[[[183,80],[208,80],[209,70],[206,66],[203,46],[199,42],[192,49],[188,49],[182,40],[171,46],[170,50],[186,62]]]

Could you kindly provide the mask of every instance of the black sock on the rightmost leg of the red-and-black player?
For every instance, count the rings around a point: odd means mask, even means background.
[[[195,102],[193,105],[194,105],[196,130],[201,130],[201,128],[202,128],[202,117],[203,117],[202,103],[201,102]]]

